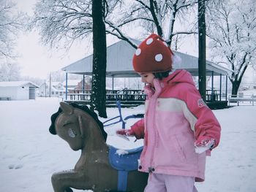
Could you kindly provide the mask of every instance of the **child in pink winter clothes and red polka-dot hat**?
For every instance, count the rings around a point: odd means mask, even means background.
[[[194,192],[205,178],[206,154],[219,145],[219,122],[191,74],[173,70],[176,55],[157,34],[136,50],[133,67],[147,85],[146,112],[117,134],[144,139],[139,171],[148,172],[146,192]]]

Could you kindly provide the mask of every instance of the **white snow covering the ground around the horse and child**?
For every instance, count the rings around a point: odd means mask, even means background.
[[[0,101],[0,191],[53,191],[53,172],[72,169],[80,157],[67,142],[48,132],[50,115],[59,99]],[[124,108],[125,116],[143,112],[143,106]],[[214,110],[222,126],[219,147],[207,158],[206,181],[196,183],[198,191],[253,192],[256,189],[256,106],[242,105]],[[108,118],[118,115],[108,108]],[[104,121],[105,119],[101,119]],[[130,120],[133,123],[135,120]],[[108,143],[122,150],[138,147],[142,141],[117,137],[116,128],[106,128]],[[77,191],[77,190],[75,190]]]

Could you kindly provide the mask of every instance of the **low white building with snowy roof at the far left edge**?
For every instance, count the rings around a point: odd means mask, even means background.
[[[36,98],[36,88],[33,82],[10,81],[0,82],[1,100],[28,100]]]

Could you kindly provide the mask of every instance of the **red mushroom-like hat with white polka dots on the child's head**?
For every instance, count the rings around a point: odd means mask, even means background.
[[[140,43],[132,64],[135,72],[167,72],[172,69],[173,52],[157,34]]]

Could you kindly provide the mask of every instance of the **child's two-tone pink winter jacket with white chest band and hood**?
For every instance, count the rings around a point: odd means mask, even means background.
[[[137,139],[144,138],[140,155],[141,172],[205,178],[206,152],[195,153],[195,142],[215,139],[220,126],[197,91],[191,74],[176,70],[154,88],[145,88],[145,117],[131,127]]]

